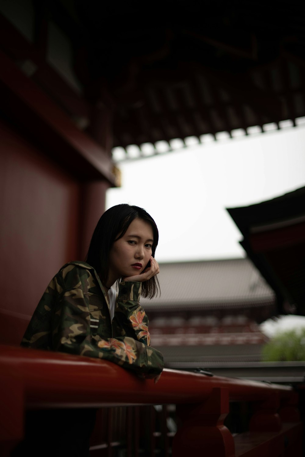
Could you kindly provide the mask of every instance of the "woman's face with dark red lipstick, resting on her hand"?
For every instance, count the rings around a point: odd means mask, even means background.
[[[153,228],[142,219],[134,219],[126,233],[113,243],[109,253],[109,279],[142,273],[152,255]]]

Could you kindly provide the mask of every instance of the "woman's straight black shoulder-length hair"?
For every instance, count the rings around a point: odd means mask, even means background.
[[[155,221],[145,209],[127,204],[113,206],[105,211],[95,227],[86,262],[93,266],[95,271],[100,275],[102,283],[105,285],[109,275],[110,248],[117,239],[120,239],[126,233],[130,223],[136,218],[150,223],[153,228],[152,255],[154,257],[159,232]],[[142,282],[141,295],[143,297],[153,298],[158,292],[160,292],[160,287],[157,276],[153,276],[147,281]]]

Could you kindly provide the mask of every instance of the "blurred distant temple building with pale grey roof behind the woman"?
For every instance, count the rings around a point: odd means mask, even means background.
[[[275,294],[250,260],[161,264],[159,282],[161,296],[141,303],[167,367],[261,360]]]

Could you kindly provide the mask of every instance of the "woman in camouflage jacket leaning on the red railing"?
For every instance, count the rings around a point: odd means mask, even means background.
[[[154,259],[157,244],[158,228],[144,209],[126,204],[108,209],[95,228],[86,263],[69,262],[54,276],[21,345],[103,358],[139,376],[154,378],[156,383],[163,370],[163,357],[156,349],[148,348],[148,320],[139,298],[152,298],[158,293],[159,266]],[[115,298],[111,287],[116,281]],[[92,409],[40,414],[44,414],[44,419],[31,418],[30,423],[35,425],[30,425],[26,432],[27,446],[33,445],[35,436],[37,449],[33,451],[31,446],[31,455],[38,454],[37,436],[44,452],[50,455],[88,455],[94,425]],[[62,425],[58,425],[58,420],[64,421]],[[54,421],[55,441],[51,430]],[[38,422],[52,436],[48,451],[45,432],[37,432]],[[21,446],[20,451],[26,449]]]

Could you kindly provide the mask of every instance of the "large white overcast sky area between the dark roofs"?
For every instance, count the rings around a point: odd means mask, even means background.
[[[121,188],[106,208],[143,207],[159,229],[161,262],[243,257],[226,207],[247,206],[305,186],[305,126],[196,145],[120,162]]]

